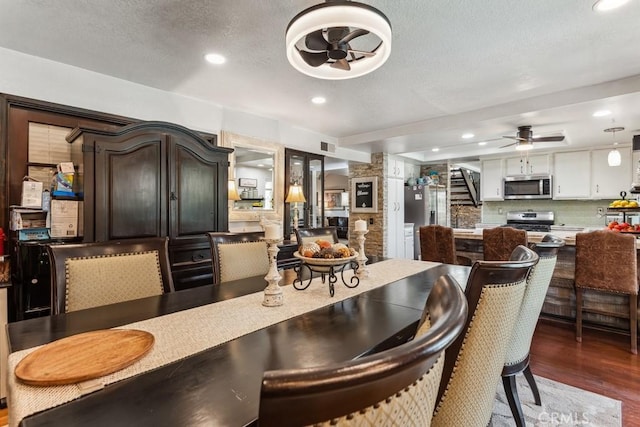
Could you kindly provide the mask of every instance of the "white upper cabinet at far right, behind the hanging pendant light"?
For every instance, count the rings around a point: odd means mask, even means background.
[[[591,198],[619,199],[621,191],[631,188],[631,147],[618,148],[622,157],[620,166],[609,166],[607,160],[611,149],[591,152]]]

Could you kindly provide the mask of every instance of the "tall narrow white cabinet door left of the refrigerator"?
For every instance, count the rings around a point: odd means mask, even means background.
[[[404,258],[404,180],[387,178],[384,256]]]

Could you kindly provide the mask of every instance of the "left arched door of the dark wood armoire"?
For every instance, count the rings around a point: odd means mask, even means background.
[[[96,240],[166,236],[163,139],[96,145]]]

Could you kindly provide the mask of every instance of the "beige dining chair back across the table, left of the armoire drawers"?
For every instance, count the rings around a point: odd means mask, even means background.
[[[168,239],[49,245],[53,314],[173,292]]]

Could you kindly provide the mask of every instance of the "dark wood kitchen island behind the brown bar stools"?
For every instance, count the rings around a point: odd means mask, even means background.
[[[558,251],[558,261],[547,291],[541,317],[558,321],[574,322],[576,317],[576,300],[574,292],[575,275],[575,236],[576,231],[552,230],[549,233],[527,232],[529,243],[537,243],[546,234],[553,234],[564,239],[565,246]],[[482,229],[454,229],[456,251],[458,255],[471,260],[481,260],[483,254]],[[636,243],[640,257],[640,240]],[[640,258],[638,265],[640,266]],[[628,298],[623,295],[586,291],[585,306],[598,307],[603,313],[583,314],[585,327],[605,328],[616,332],[629,333],[629,321],[606,313],[626,313]],[[640,310],[639,310],[640,311]]]

